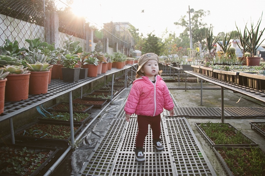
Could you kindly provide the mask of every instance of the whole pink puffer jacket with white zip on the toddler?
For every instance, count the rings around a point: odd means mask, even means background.
[[[146,76],[133,82],[127,102],[124,107],[126,114],[156,116],[163,112],[163,108],[171,111],[174,107],[166,83],[156,76],[156,84]]]

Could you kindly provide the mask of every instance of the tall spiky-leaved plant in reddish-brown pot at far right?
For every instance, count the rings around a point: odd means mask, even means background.
[[[247,65],[253,65],[253,66],[260,65],[261,57],[255,56],[255,54],[256,54],[257,48],[265,40],[265,39],[261,40],[261,36],[265,30],[265,28],[262,30],[259,29],[261,21],[262,21],[262,15],[255,26],[253,25],[253,23],[251,23],[250,29],[245,27],[247,29],[249,41],[247,41],[247,39],[244,39],[244,38],[243,40],[246,42],[246,46],[249,49],[249,51],[251,51],[251,55],[252,55],[251,57],[247,57]]]

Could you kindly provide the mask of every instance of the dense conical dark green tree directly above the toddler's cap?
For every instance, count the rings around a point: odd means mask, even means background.
[[[158,56],[161,53],[163,44],[162,39],[155,36],[155,34],[147,34],[147,38],[144,39],[143,47],[142,47],[142,54],[144,53],[156,53]]]

